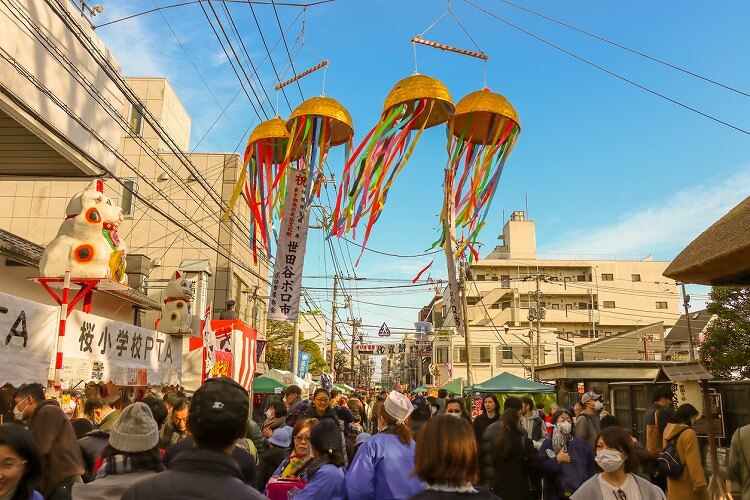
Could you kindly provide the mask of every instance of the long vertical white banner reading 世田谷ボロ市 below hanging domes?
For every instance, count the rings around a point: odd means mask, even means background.
[[[305,206],[307,172],[290,169],[273,267],[268,319],[297,321],[310,210]]]

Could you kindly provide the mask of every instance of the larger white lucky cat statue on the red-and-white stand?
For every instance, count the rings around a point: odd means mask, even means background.
[[[92,181],[65,210],[57,236],[42,252],[42,276],[106,278],[126,284],[125,244],[117,235],[122,209],[104,194],[104,182]]]

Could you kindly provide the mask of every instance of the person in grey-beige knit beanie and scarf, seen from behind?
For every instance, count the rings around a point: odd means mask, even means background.
[[[120,498],[133,484],[163,470],[156,420],[145,403],[134,403],[115,422],[95,479],[73,486],[73,500]]]

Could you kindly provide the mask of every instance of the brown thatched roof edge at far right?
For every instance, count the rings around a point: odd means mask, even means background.
[[[664,276],[701,285],[750,285],[750,197],[693,240]]]

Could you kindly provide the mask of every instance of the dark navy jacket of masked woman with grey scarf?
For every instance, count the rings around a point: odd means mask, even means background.
[[[574,437],[568,441],[567,448],[570,463],[564,464],[557,462],[557,455],[550,457],[547,453],[547,450],[552,454],[555,453],[552,449],[552,439],[545,439],[539,449],[539,459],[542,461],[542,468],[544,469],[545,500],[567,498],[560,488],[562,482],[568,486],[580,487],[598,471],[594,462],[594,452],[591,451],[588,442],[583,438]]]

